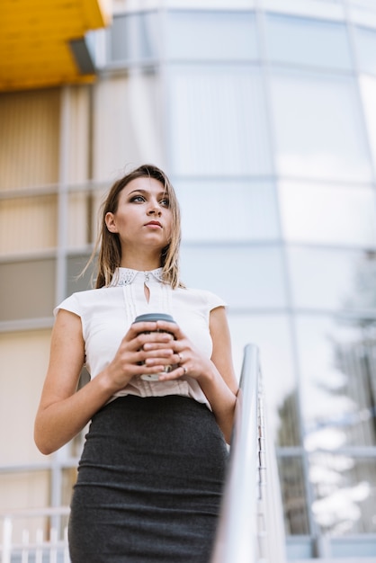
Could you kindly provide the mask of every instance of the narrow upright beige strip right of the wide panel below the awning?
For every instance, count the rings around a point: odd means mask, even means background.
[[[90,86],[69,91],[69,183],[85,183],[89,174]]]

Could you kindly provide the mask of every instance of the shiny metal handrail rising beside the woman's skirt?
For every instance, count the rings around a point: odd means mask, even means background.
[[[211,563],[285,561],[281,491],[266,434],[259,351],[247,344]]]

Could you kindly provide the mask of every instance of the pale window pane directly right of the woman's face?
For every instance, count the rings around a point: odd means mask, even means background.
[[[175,181],[184,240],[243,241],[279,237],[274,184]],[[376,222],[376,221],[375,221]]]

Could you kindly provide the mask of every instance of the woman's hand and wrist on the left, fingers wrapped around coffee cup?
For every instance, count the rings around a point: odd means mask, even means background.
[[[123,389],[133,377],[164,371],[166,365],[174,364],[178,357],[173,341],[173,335],[157,332],[156,322],[131,325],[112,362],[102,373],[112,393]],[[145,344],[153,344],[152,350],[148,350],[148,345],[144,349]],[[148,367],[144,362],[150,358],[153,358],[153,365]]]

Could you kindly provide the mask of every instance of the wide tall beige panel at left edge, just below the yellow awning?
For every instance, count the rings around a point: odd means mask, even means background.
[[[58,89],[0,94],[0,190],[58,182]]]

